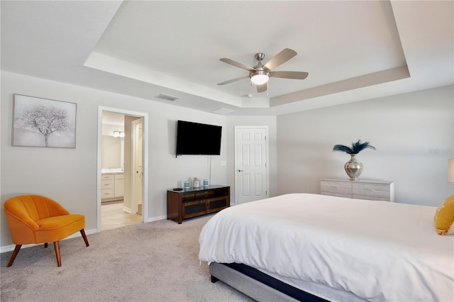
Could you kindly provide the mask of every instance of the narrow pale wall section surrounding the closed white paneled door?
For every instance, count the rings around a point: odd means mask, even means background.
[[[227,181],[231,185],[231,203],[235,200],[235,126],[267,126],[268,127],[268,147],[270,171],[269,196],[277,195],[277,134],[276,116],[228,116],[227,117]]]

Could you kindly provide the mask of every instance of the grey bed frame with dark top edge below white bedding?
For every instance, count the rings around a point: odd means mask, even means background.
[[[326,302],[245,264],[211,262],[209,271],[211,282],[221,280],[256,301]]]

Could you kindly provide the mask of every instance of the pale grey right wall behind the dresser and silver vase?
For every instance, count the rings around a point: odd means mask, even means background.
[[[319,193],[322,178],[348,179],[336,144],[370,141],[360,179],[395,181],[399,203],[438,206],[453,194],[453,86],[277,117],[278,193]]]

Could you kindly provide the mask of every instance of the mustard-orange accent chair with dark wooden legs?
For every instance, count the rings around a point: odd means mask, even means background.
[[[84,231],[85,216],[71,214],[50,198],[38,195],[16,196],[5,201],[4,211],[11,238],[16,245],[8,267],[13,265],[22,245],[44,243],[44,247],[48,247],[48,242],[53,242],[59,267],[62,266],[60,240],[79,231],[85,245],[89,246]]]

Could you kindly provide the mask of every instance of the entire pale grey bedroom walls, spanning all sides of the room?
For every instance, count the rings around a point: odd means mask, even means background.
[[[13,94],[77,103],[75,149],[11,147]],[[270,147],[270,196],[319,192],[319,179],[346,178],[348,155],[333,145],[369,140],[377,150],[358,155],[361,179],[396,182],[397,202],[438,206],[453,194],[448,158],[453,156],[453,86],[321,108],[285,116],[218,116],[106,91],[1,72],[1,203],[19,194],[54,198],[86,216],[96,229],[96,160],[99,106],[148,113],[148,216],[167,214],[166,191],[189,177],[232,186],[234,127],[267,125]],[[223,126],[221,156],[175,158],[177,120]],[[211,162],[210,162],[211,161]],[[226,166],[221,166],[226,161]],[[233,203],[235,201],[233,200]],[[1,211],[0,246],[11,245]]]

